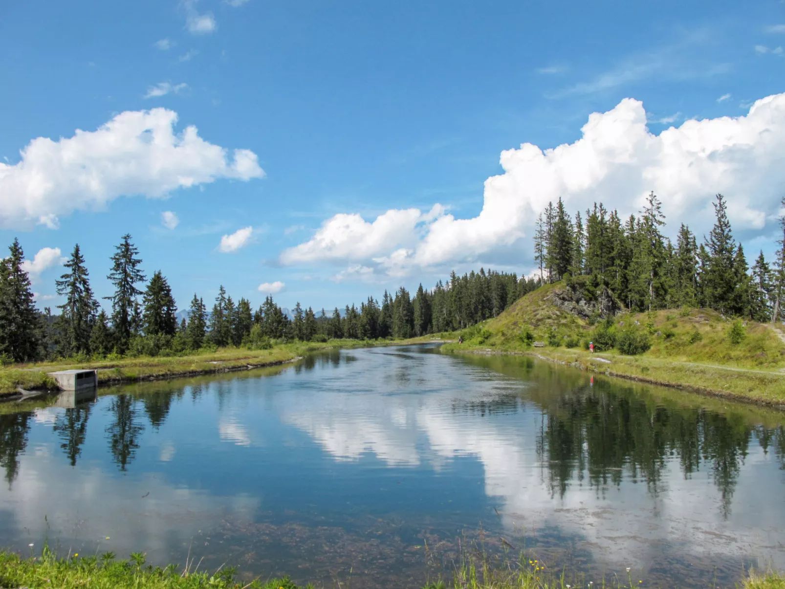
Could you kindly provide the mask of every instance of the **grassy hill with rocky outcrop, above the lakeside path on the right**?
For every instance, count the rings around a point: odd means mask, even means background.
[[[506,351],[588,349],[623,356],[716,364],[736,368],[785,368],[780,327],[721,316],[710,309],[622,311],[604,320],[597,302],[581,301],[564,282],[520,298],[495,319],[462,331],[466,347]],[[564,301],[568,302],[565,303]]]

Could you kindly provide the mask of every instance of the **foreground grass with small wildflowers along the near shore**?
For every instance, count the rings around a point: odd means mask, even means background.
[[[190,570],[192,569],[193,570]],[[0,587],[57,587],[57,589],[299,589],[288,577],[272,580],[239,582],[232,569],[215,573],[200,572],[189,565],[179,571],[169,565],[162,569],[145,565],[144,554],[133,554],[130,560],[115,560],[113,554],[57,558],[46,548],[42,557],[20,558],[0,553]],[[497,569],[487,565],[464,562],[455,570],[451,583],[436,581],[423,589],[569,589],[585,586],[580,577],[571,579],[564,571],[551,571],[536,560],[521,559]],[[591,586],[591,585],[590,585]],[[631,576],[626,579],[603,581],[603,587],[644,587],[643,580]],[[750,573],[741,583],[744,589],[783,589],[785,576],[778,573]],[[303,589],[309,589],[306,585]],[[391,587],[392,589],[392,587]],[[403,589],[403,587],[401,588]]]

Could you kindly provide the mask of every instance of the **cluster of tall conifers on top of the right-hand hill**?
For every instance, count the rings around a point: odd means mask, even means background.
[[[750,267],[727,212],[718,194],[709,235],[698,243],[682,223],[674,244],[663,236],[665,216],[653,192],[638,216],[626,219],[602,203],[572,218],[559,199],[537,221],[537,272],[544,282],[566,279],[595,292],[607,288],[632,311],[708,307],[757,321],[777,320],[785,287],[785,217],[780,218],[783,239],[773,265],[761,251]]]

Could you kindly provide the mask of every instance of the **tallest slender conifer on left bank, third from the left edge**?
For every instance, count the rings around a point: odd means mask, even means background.
[[[111,284],[115,285],[115,294],[105,298],[111,300],[111,323],[115,331],[116,345],[122,353],[126,351],[134,331],[134,315],[139,315],[134,313],[134,310],[138,309],[137,296],[142,294],[142,291],[137,289],[136,284],[144,282],[144,273],[139,269],[142,261],[136,257],[139,251],[131,243],[129,233],[122,236],[122,242],[115,250],[115,255],[110,258],[111,272],[107,276]]]

